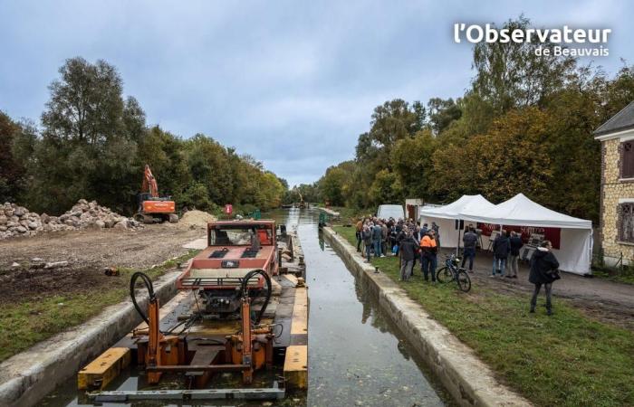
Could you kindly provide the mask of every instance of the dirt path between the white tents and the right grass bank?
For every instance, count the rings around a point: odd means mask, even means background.
[[[448,251],[447,251],[448,252]],[[438,263],[444,260],[438,256]],[[474,284],[495,291],[526,297],[526,307],[533,293],[533,284],[528,282],[529,269],[520,265],[517,279],[489,277],[493,265],[490,253],[478,252],[471,274]],[[438,267],[441,267],[440,264]],[[543,296],[543,293],[542,293]],[[552,285],[553,304],[557,298],[568,298],[572,304],[591,317],[634,330],[634,286],[605,279],[591,279],[572,273],[562,273],[562,279]]]

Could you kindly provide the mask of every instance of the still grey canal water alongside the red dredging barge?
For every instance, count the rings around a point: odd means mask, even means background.
[[[427,373],[397,327],[378,307],[322,240],[317,210],[267,213],[289,230],[297,229],[306,261],[309,286],[309,390],[283,402],[222,401],[208,403],[149,403],[145,405],[309,405],[309,406],[440,406],[451,404],[447,393]],[[43,400],[42,405],[82,406],[73,378]],[[135,390],[142,376],[121,377],[115,388]],[[101,403],[103,406],[122,405]],[[125,405],[125,404],[123,404]]]

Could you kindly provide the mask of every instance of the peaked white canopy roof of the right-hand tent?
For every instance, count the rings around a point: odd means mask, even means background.
[[[516,224],[545,228],[592,229],[591,221],[554,212],[540,204],[534,203],[524,194],[516,194],[508,201],[494,205],[493,208],[470,206],[461,211],[456,217],[483,223]]]

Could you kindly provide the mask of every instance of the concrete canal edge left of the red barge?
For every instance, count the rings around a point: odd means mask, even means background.
[[[154,282],[161,303],[176,295],[179,275],[180,271],[169,271]],[[147,296],[139,294],[139,298],[142,298],[139,306],[147,307]],[[128,299],[104,308],[97,317],[80,326],[10,357],[0,364],[0,405],[36,405],[140,322]]]

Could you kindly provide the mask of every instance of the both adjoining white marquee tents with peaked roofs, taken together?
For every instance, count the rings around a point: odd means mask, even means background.
[[[423,222],[440,226],[440,244],[458,246],[456,220],[495,225],[559,228],[560,248],[552,253],[560,262],[560,270],[576,274],[590,273],[592,252],[592,222],[554,212],[517,194],[502,204],[491,204],[481,195],[464,195],[456,202],[421,211]],[[488,237],[483,236],[488,245]]]

